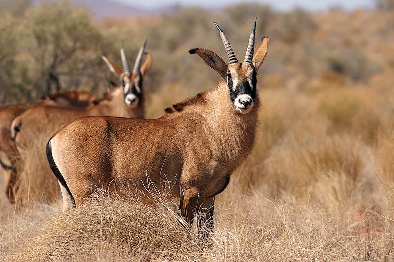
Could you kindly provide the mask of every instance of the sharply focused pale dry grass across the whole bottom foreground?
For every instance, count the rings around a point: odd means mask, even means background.
[[[327,209],[311,197],[274,199],[259,191],[239,194],[236,187],[217,200],[209,246],[178,222],[171,204],[95,197],[65,213],[36,204],[11,215],[1,227],[0,255],[4,261],[394,259],[393,224],[372,208]]]

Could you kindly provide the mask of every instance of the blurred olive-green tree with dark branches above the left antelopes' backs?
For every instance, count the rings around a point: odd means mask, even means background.
[[[102,35],[87,10],[68,2],[38,4],[26,12],[21,30],[35,91],[78,86],[98,63]]]

